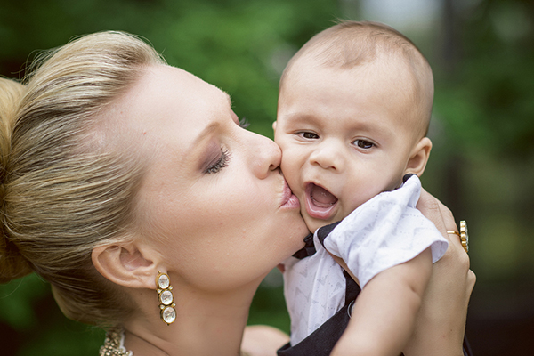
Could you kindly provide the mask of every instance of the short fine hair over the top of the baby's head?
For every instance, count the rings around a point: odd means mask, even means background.
[[[433,74],[425,56],[399,31],[371,21],[342,20],[321,31],[295,53],[280,78],[279,91],[296,63],[305,58],[318,66],[352,69],[377,59],[402,61],[412,77],[412,99],[420,136],[425,136],[433,105]]]

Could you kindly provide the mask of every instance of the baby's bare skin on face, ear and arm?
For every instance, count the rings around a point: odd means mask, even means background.
[[[419,128],[425,121],[407,114],[415,110],[411,92],[404,90],[408,73],[402,61],[382,57],[352,69],[325,66],[315,57],[293,63],[273,128],[282,170],[310,231],[400,187],[405,174],[425,171],[432,142]],[[431,272],[427,250],[362,285],[332,355],[398,355],[415,326]]]

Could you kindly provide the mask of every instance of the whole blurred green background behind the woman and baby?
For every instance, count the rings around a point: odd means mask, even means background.
[[[272,137],[289,57],[338,18],[379,20],[425,53],[435,76],[423,176],[471,233],[477,285],[467,333],[476,355],[534,350],[534,2],[531,0],[0,0],[0,75],[38,50],[103,29],[141,35],[166,60],[231,94]],[[287,331],[277,271],[250,323]],[[66,320],[35,275],[0,286],[0,354],[96,355],[98,328]]]

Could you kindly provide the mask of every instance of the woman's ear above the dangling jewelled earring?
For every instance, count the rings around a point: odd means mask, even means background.
[[[91,258],[96,270],[117,285],[156,288],[157,254],[146,245],[102,245],[93,248]]]

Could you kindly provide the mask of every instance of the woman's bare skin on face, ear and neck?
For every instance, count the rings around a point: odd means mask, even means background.
[[[133,304],[126,349],[238,355],[257,287],[308,233],[279,147],[240,127],[226,93],[164,65],[148,67],[100,124],[104,142],[147,164],[139,228],[93,249],[96,269]],[[159,317],[159,271],[174,288],[169,326]]]

